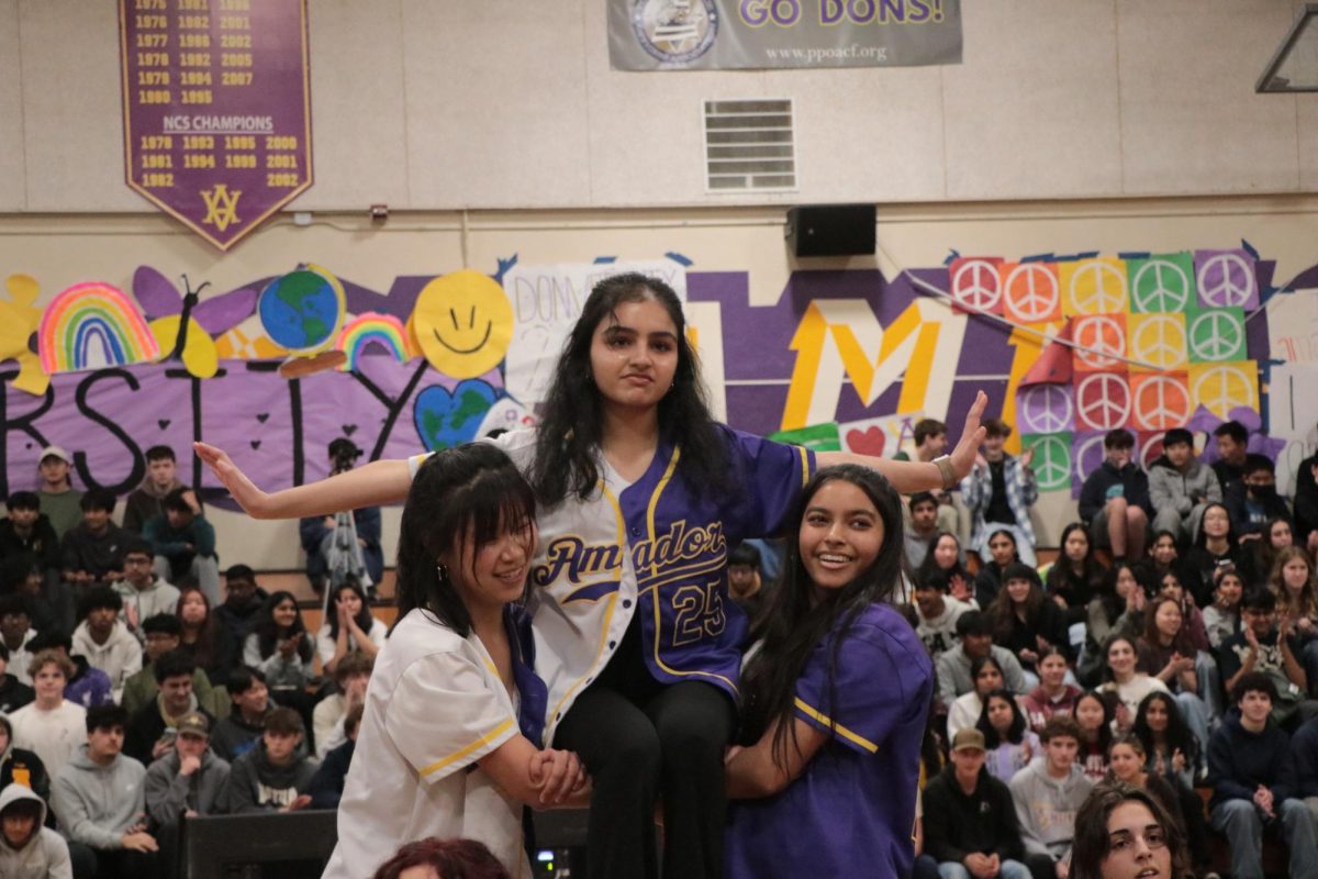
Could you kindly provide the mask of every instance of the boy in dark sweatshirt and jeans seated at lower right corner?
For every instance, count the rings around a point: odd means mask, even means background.
[[[1240,676],[1231,712],[1209,743],[1213,826],[1227,837],[1232,876],[1263,875],[1263,832],[1280,828],[1296,879],[1318,876],[1314,822],[1298,799],[1290,738],[1269,717],[1277,688],[1261,672]]]

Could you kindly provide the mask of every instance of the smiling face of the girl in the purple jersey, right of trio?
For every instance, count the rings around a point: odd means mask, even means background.
[[[817,592],[841,589],[869,569],[883,548],[883,519],[859,486],[825,482],[801,519],[801,564]]]

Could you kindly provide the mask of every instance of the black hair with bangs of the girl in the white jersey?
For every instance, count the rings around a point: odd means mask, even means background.
[[[398,621],[420,608],[467,638],[472,617],[440,556],[471,538],[472,557],[455,564],[474,565],[482,547],[534,522],[535,494],[502,449],[469,443],[431,455],[403,505],[394,593]]]

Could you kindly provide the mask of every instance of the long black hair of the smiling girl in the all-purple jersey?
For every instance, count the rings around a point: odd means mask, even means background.
[[[874,563],[841,589],[830,590],[821,601],[815,598],[815,584],[801,560],[799,532],[811,501],[829,482],[850,482],[874,505],[883,522],[883,544]],[[774,734],[774,762],[782,768],[788,762],[788,747],[797,747],[795,731],[796,680],[815,648],[837,631],[828,659],[828,717],[837,717],[837,662],[857,618],[873,604],[888,601],[902,577],[902,501],[879,473],[855,464],[841,464],[818,470],[801,492],[796,505],[792,536],[788,540],[783,582],[774,590],[771,604],[760,615],[751,639],[763,638],[759,652],[742,675],[745,696],[741,741],[755,742],[778,723]]]

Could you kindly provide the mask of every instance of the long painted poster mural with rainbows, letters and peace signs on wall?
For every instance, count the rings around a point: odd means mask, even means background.
[[[687,302],[734,427],[892,455],[925,414],[960,430],[985,390],[1017,428],[1012,448],[1036,447],[1041,488],[1072,490],[1112,427],[1135,431],[1149,457],[1172,426],[1264,426],[1277,365],[1267,306],[1294,289],[1275,286],[1275,264],[1248,245],[954,253],[894,278],[799,270],[771,306],[750,304],[749,273],[701,271],[680,254],[547,266],[513,256],[492,268],[377,291],[308,262],[216,293],[141,266],[45,307],[40,279],[9,275],[0,490],[30,488],[50,443],[74,452],[84,486],[128,490],[145,448],[204,439],[283,488],[324,476],[336,436],[372,459],[402,457],[534,423],[590,286],[622,270],[662,277]],[[196,461],[182,476],[216,488]]]

